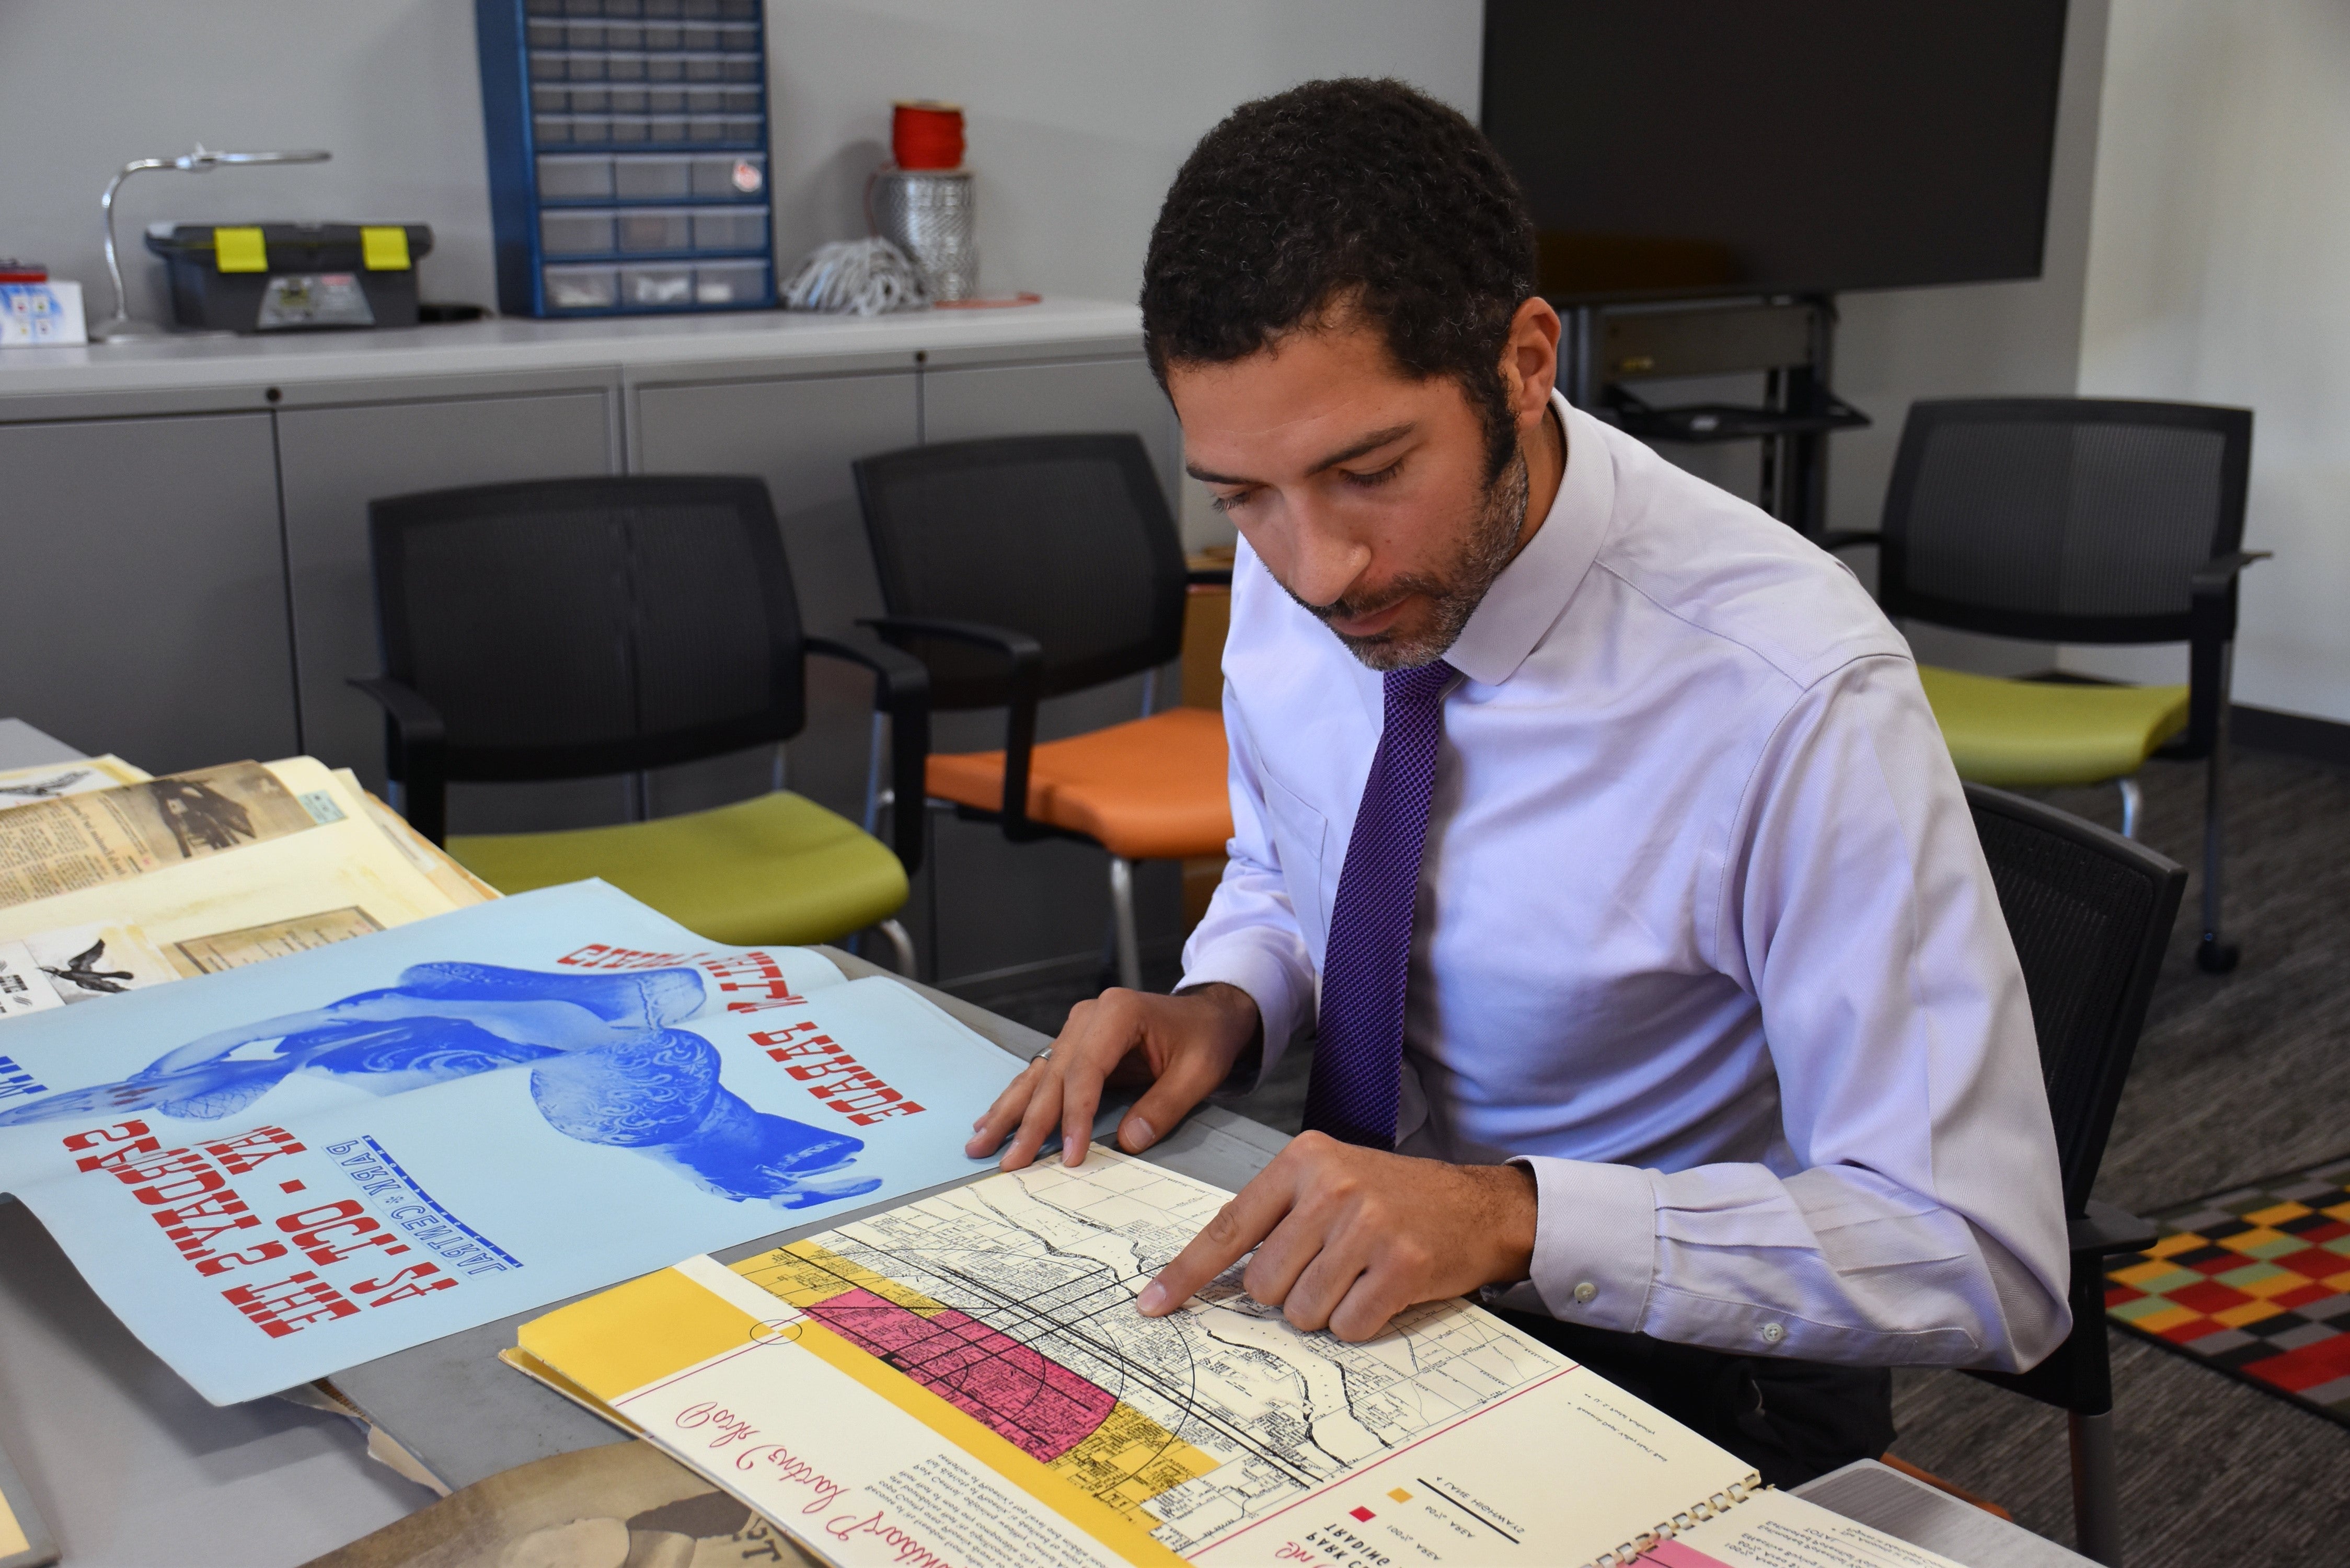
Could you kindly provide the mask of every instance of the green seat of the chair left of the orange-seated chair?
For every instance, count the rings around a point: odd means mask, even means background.
[[[905,905],[898,856],[787,790],[618,827],[451,837],[501,893],[602,877],[712,943],[827,943]]]

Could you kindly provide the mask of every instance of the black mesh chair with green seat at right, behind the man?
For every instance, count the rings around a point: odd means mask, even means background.
[[[2099,397],[1918,402],[1885,494],[1878,599],[2033,642],[2186,642],[2186,686],[2007,682],[1920,668],[1965,778],[2005,788],[2120,783],[2136,835],[2150,755],[2204,759],[2197,964],[2235,969],[2221,933],[2228,656],[2244,550],[2251,411]]]

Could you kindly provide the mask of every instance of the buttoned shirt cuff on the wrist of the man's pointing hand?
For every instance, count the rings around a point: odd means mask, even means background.
[[[1535,1291],[1560,1324],[1638,1333],[1657,1279],[1647,1171],[1525,1154],[1535,1173]]]

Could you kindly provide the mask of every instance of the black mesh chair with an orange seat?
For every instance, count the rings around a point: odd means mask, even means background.
[[[1231,837],[1222,715],[1152,712],[1156,670],[1182,654],[1187,583],[1231,571],[1184,569],[1130,433],[909,447],[853,468],[888,607],[867,625],[921,656],[935,708],[1006,710],[1003,750],[931,757],[926,795],[1013,842],[1107,849],[1119,980],[1142,985],[1133,863],[1220,856]],[[1041,698],[1130,675],[1152,677],[1140,719],[1036,743]],[[900,785],[893,802],[900,825],[921,816],[921,795]]]

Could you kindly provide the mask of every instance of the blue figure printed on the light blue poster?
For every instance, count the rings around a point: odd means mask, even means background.
[[[677,1027],[700,1009],[703,976],[691,969],[566,976],[414,964],[397,985],[216,1030],[122,1081],[0,1112],[0,1126],[143,1107],[221,1121],[294,1072],[392,1095],[529,1067],[548,1126],[634,1150],[703,1192],[806,1208],[881,1185],[879,1175],[841,1175],[865,1140],[757,1112],[728,1093],[717,1048]]]

